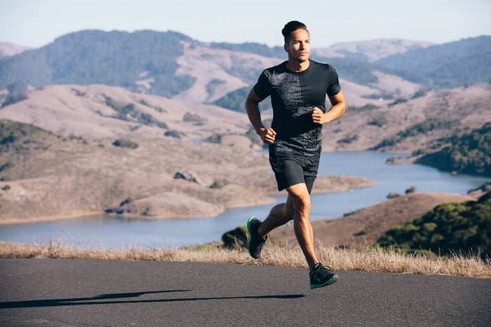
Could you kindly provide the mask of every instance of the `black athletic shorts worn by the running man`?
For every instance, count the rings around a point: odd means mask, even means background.
[[[284,190],[295,184],[305,183],[309,193],[312,192],[317,177],[321,153],[312,156],[293,155],[273,151],[269,152],[269,163],[273,169],[278,190]]]

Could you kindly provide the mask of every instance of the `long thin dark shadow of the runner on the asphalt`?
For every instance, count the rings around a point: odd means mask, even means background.
[[[231,299],[261,299],[261,298],[276,298],[276,299],[292,299],[303,298],[303,294],[290,295],[250,295],[250,296],[222,296],[210,298],[165,298],[154,300],[114,300],[123,298],[138,298],[145,294],[156,293],[175,293],[189,292],[192,290],[168,290],[168,291],[150,291],[137,293],[114,293],[95,295],[92,298],[58,298],[48,300],[25,300],[13,302],[0,302],[0,309],[14,309],[22,307],[64,307],[69,305],[117,305],[126,303],[154,303],[154,302],[183,302],[183,301],[203,301],[203,300],[231,300]]]

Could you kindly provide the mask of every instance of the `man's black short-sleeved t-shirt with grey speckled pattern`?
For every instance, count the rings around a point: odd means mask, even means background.
[[[286,62],[265,69],[254,92],[261,99],[271,96],[276,140],[270,151],[295,155],[316,155],[321,151],[322,125],[314,124],[314,106],[325,112],[325,95],[341,91],[334,67],[310,60],[309,68],[298,73],[286,68]]]

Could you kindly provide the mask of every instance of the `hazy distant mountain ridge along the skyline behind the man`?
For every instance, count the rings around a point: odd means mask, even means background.
[[[314,49],[312,59],[330,62],[344,80],[371,88],[379,83],[377,71],[422,88],[458,87],[490,80],[491,36],[433,46],[403,40],[356,44]],[[178,32],[86,30],[60,36],[42,48],[2,58],[0,86],[21,83],[39,88],[98,83],[211,103],[227,99],[229,94],[237,97],[234,92],[249,88],[262,69],[284,59],[282,47],[269,48],[259,43],[203,43]],[[419,62],[417,69],[415,62]],[[193,94],[189,95],[187,90],[191,88]],[[379,88],[380,85],[376,91],[381,95],[388,93]]]

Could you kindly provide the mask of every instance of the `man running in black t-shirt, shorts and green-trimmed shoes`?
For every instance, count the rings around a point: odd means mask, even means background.
[[[321,158],[322,125],[342,116],[346,102],[335,69],[310,60],[310,34],[302,22],[288,22],[282,29],[288,60],[265,69],[245,100],[250,123],[262,141],[269,144],[269,162],[278,190],[286,189],[285,203],[271,209],[264,221],[250,217],[248,251],[261,256],[267,234],[293,220],[295,236],[310,270],[310,288],[337,281],[316,258],[314,232],[309,220],[310,193]],[[328,96],[332,107],[325,108]],[[271,97],[271,127],[262,124],[259,103]]]

